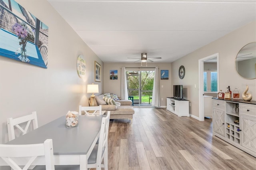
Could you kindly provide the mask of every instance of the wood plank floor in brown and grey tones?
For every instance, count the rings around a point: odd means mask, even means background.
[[[212,119],[177,117],[166,108],[135,108],[110,120],[109,170],[255,170],[256,158],[212,136]]]

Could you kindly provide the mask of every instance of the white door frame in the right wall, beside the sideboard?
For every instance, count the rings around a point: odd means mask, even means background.
[[[213,54],[208,57],[204,57],[202,59],[198,60],[198,73],[199,73],[199,120],[204,121],[204,91],[205,89],[205,83],[204,83],[204,63],[205,62],[216,62],[217,68],[214,70],[214,73],[216,73],[217,77],[217,93],[219,91],[219,54]],[[209,72],[209,71],[208,71]],[[208,92],[210,93],[210,92]]]

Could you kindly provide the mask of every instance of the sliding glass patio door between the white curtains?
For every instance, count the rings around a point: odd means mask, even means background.
[[[154,71],[126,71],[128,96],[134,107],[151,107]]]

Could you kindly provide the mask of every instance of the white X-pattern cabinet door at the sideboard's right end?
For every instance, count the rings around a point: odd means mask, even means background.
[[[241,145],[256,152],[256,118],[240,116]]]

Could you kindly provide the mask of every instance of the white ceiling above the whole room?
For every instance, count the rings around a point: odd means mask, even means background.
[[[256,0],[48,2],[103,62],[172,62],[256,20]]]

